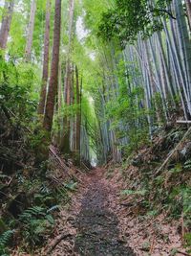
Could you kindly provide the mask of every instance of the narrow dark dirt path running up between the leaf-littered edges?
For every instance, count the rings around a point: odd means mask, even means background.
[[[77,235],[74,252],[90,256],[131,256],[132,250],[119,238],[115,207],[115,191],[96,169],[86,178],[87,189],[81,199],[81,210],[76,217]]]

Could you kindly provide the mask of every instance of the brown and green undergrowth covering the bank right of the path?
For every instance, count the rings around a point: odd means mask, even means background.
[[[156,175],[170,151],[173,151],[184,131],[172,128],[154,138],[152,146],[143,147],[120,166],[125,188],[120,198],[129,201],[132,214],[138,218],[157,218],[182,222],[184,246],[191,252],[191,149],[190,137],[184,140],[166,166]],[[114,170],[114,168],[112,168]],[[111,168],[108,177],[113,177]],[[137,211],[134,210],[138,209]],[[183,229],[183,230],[182,230]]]

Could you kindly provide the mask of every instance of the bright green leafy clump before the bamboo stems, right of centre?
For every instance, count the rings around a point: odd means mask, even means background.
[[[128,63],[131,70],[132,63]],[[133,86],[132,79],[135,74],[125,72],[125,63],[120,61],[117,65],[117,78],[119,93],[106,105],[107,118],[112,120],[112,129],[117,139],[128,138],[128,145],[122,147],[124,155],[138,150],[138,147],[148,143],[147,109],[142,107],[144,91],[141,85]],[[138,76],[139,74],[136,73]],[[113,92],[114,94],[114,92]],[[121,125],[125,129],[121,129]]]

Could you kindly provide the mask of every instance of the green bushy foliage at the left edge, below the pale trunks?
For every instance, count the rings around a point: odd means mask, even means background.
[[[0,99],[1,107],[11,110],[16,123],[32,120],[37,105],[37,95],[33,92],[37,79],[32,65],[16,64],[1,58]]]

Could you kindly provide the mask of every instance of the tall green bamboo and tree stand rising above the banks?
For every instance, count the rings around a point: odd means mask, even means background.
[[[1,84],[30,82],[42,154],[46,134],[76,162],[120,162],[190,119],[190,32],[190,0],[6,0]]]

